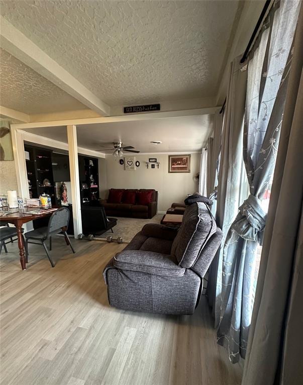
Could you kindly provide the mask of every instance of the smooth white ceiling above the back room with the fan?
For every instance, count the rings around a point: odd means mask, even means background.
[[[27,132],[67,143],[65,127],[26,129]],[[213,131],[213,115],[150,119],[77,126],[78,146],[102,149],[105,142],[122,141],[141,152],[199,151]],[[152,140],[160,140],[154,145]],[[110,148],[106,147],[106,148]],[[107,154],[113,151],[104,151]]]

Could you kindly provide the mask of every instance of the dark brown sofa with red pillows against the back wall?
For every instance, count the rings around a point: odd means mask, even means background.
[[[158,205],[158,191],[154,189],[140,188],[140,189],[125,189],[125,188],[111,188],[109,190],[109,197],[111,196],[111,191],[117,193],[122,191],[121,203],[111,203],[108,200],[101,200],[105,208],[106,214],[108,216],[114,217],[127,217],[127,218],[153,218],[157,214],[157,205]],[[151,191],[151,202],[142,205],[137,199],[137,193],[144,191]],[[128,192],[136,193],[136,200],[133,204],[125,202],[125,196]]]

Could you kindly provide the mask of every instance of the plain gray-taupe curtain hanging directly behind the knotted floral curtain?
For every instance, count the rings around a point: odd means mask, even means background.
[[[236,218],[239,207],[239,185],[243,158],[243,117],[247,85],[247,71],[240,64],[240,59],[241,56],[235,58],[230,65],[223,130],[222,127],[219,129],[218,125],[219,132],[215,132],[215,139],[217,135],[218,193],[215,193],[214,199],[217,198],[216,221],[223,232],[222,245],[224,245],[225,237]],[[220,143],[218,143],[218,139]],[[207,288],[208,301],[212,307],[216,327],[218,327],[220,320],[222,258],[223,248],[221,247],[212,262]]]

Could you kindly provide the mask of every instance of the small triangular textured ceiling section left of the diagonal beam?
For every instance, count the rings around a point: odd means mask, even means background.
[[[3,49],[0,49],[0,104],[27,114],[86,108]]]

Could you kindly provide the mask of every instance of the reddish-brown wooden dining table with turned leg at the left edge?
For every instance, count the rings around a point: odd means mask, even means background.
[[[8,215],[4,215],[0,217],[0,225],[2,223],[11,223],[15,225],[18,236],[18,247],[20,254],[20,263],[22,270],[26,270],[26,261],[25,261],[25,248],[24,248],[24,238],[23,238],[23,224],[27,222],[34,221],[35,219],[45,218],[51,216],[58,208],[54,209],[45,209],[41,214],[30,214],[29,211],[39,210],[38,207],[25,207],[22,210],[18,210],[18,212],[13,213],[13,211],[17,211],[18,209],[9,209],[9,208],[1,208],[1,211],[11,211],[12,213]]]

